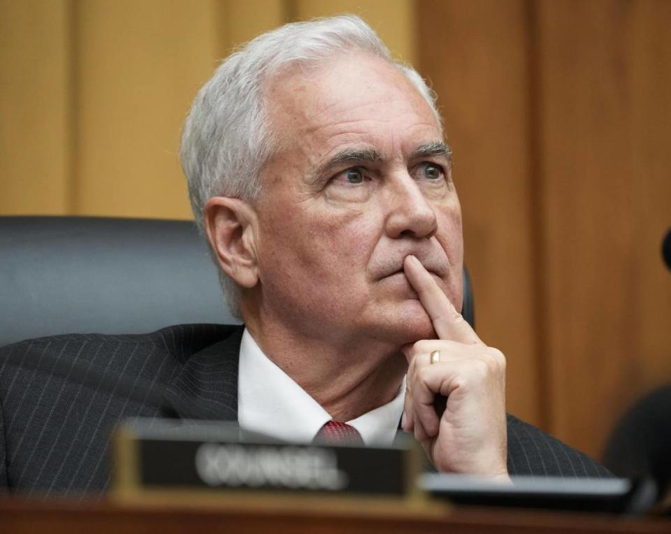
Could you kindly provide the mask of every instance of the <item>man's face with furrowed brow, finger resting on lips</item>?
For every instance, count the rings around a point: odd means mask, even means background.
[[[261,315],[315,340],[434,336],[403,274],[414,254],[461,309],[461,208],[431,108],[356,53],[266,88],[280,150],[262,173]]]

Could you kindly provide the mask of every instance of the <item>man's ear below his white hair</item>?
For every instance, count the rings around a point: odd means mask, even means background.
[[[204,219],[219,268],[241,287],[254,287],[259,282],[254,208],[240,199],[214,196],[205,203]]]

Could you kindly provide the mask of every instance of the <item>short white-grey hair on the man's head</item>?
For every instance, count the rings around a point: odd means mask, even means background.
[[[435,94],[411,66],[395,62],[366,22],[355,15],[292,22],[268,31],[227,57],[199,91],[182,132],[180,160],[196,224],[213,196],[254,201],[260,175],[277,147],[269,127],[264,84],[280,71],[317,66],[348,51],[368,52],[396,66],[424,96],[440,126]],[[224,296],[239,317],[240,288],[219,270]]]

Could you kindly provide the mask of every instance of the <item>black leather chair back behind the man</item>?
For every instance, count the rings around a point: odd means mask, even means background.
[[[464,317],[473,324],[464,273]],[[0,305],[0,346],[59,333],[239,323],[189,221],[0,217]]]

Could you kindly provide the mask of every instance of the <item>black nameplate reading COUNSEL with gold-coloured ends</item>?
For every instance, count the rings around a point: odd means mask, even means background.
[[[389,447],[280,442],[228,422],[131,419],[115,432],[113,491],[282,493],[417,499],[417,442]]]

